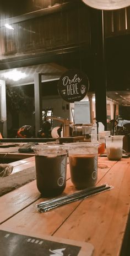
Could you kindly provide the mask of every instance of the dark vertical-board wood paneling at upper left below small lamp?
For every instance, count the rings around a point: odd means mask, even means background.
[[[46,52],[90,43],[88,8],[67,11],[12,24],[14,30],[1,27],[1,55]]]

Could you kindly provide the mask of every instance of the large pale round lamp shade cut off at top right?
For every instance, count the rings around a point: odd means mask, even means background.
[[[130,0],[82,0],[87,6],[101,10],[116,10],[130,6]]]

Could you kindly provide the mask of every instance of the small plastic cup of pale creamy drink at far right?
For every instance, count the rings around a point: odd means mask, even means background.
[[[106,155],[109,160],[120,160],[122,158],[124,136],[105,137],[106,140]]]

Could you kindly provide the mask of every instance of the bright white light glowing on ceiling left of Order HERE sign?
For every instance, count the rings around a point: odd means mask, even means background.
[[[20,79],[26,78],[27,75],[21,71],[17,71],[17,69],[13,69],[12,71],[2,73],[2,76],[6,79],[18,81]]]

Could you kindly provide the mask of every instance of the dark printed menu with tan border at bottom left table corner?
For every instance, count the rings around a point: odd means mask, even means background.
[[[56,238],[42,238],[0,230],[0,255],[2,256],[92,256],[91,243]]]

